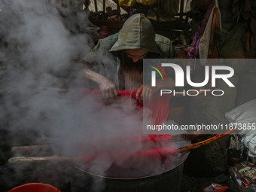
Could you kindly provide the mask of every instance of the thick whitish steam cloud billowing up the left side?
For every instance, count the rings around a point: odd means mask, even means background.
[[[3,34],[8,44],[3,49],[8,71],[2,92],[6,113],[11,116],[10,129],[41,130],[47,136],[62,138],[62,144],[78,137],[118,136],[128,130],[135,134],[136,115],[120,113],[114,105],[104,107],[80,89],[69,87],[74,61],[90,50],[92,40],[89,32],[74,34],[66,29],[63,23],[69,18],[60,17],[53,5],[59,6],[53,1],[8,1],[2,13],[15,23],[4,23],[9,30]],[[15,54],[10,52],[11,46]],[[57,88],[62,86],[70,91],[59,92]],[[133,120],[138,122],[133,124]]]

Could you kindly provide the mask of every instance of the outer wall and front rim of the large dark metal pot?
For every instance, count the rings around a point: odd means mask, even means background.
[[[187,142],[188,144],[190,142]],[[96,175],[82,169],[79,165],[72,164],[72,191],[104,191],[104,192],[178,192],[181,187],[181,175],[184,161],[189,151],[185,151],[178,157],[178,163],[163,172],[155,175],[146,175],[137,178],[114,178]]]

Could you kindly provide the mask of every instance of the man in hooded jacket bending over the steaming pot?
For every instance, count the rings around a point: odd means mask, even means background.
[[[81,75],[96,83],[105,99],[114,99],[118,90],[137,90],[136,99],[152,96],[152,87],[143,87],[144,58],[175,58],[169,38],[157,35],[144,14],[126,20],[119,33],[100,39],[79,62]],[[169,87],[174,87],[172,78]],[[157,84],[158,85],[158,84]],[[157,86],[159,87],[159,86]]]

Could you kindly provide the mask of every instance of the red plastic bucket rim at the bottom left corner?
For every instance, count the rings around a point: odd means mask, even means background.
[[[28,183],[14,187],[8,192],[60,192],[60,190],[50,184]]]

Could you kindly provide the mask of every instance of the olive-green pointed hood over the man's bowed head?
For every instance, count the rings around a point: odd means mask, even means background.
[[[134,14],[123,24],[118,40],[109,51],[141,49],[160,54],[155,35],[150,20],[144,14]]]

